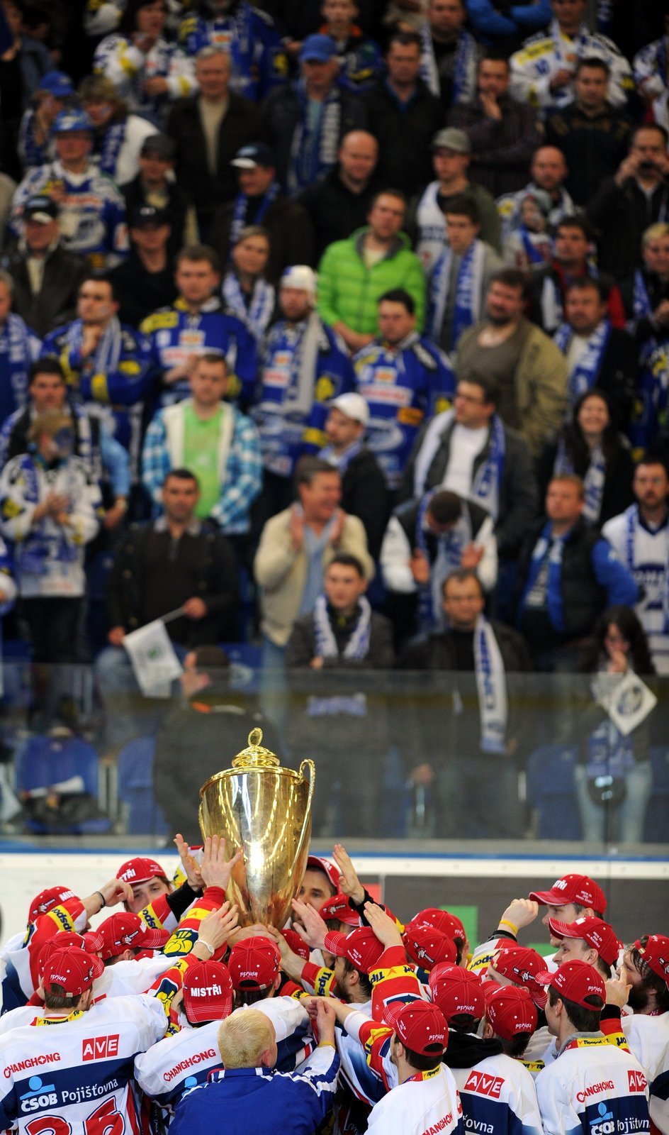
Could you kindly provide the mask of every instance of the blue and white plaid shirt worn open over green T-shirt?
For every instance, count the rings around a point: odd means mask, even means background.
[[[178,403],[178,409],[183,411],[186,404],[186,402]],[[164,415],[166,412],[169,414],[175,410],[177,406],[170,406],[168,411],[160,410],[156,413],[146,430],[142,451],[142,481],[151,494],[154,516],[162,512],[161,488],[172,468]],[[221,485],[221,496],[209,519],[218,524],[221,532],[229,536],[248,531],[248,510],[262,488],[262,460],[260,437],[251,419],[228,403],[226,412],[234,414],[235,419],[232,442]],[[178,461],[177,465],[183,465],[183,461]]]

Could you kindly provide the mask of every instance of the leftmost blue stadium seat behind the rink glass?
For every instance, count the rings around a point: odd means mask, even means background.
[[[98,800],[100,762],[98,753],[78,737],[31,737],[15,757],[16,792],[29,791],[81,776],[84,791]],[[62,827],[63,834],[85,835],[108,832],[108,816],[83,819]],[[36,819],[26,819],[28,831],[44,834],[46,829]]]

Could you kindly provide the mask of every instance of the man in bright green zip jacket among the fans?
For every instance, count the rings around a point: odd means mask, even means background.
[[[346,241],[334,241],[319,264],[319,314],[350,352],[374,338],[378,302],[391,288],[405,288],[414,297],[418,329],[423,326],[425,278],[408,237],[400,232],[405,215],[401,193],[378,193],[370,224]]]

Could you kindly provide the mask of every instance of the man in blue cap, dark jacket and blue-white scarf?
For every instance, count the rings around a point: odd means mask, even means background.
[[[337,165],[339,143],[349,131],[364,129],[358,98],[338,83],[337,44],[329,35],[307,35],[299,52],[300,77],[278,87],[264,107],[264,136],[274,151],[283,190],[296,196]],[[310,102],[321,103],[314,125]]]

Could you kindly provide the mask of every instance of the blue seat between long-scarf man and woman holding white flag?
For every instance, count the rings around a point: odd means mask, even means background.
[[[539,815],[540,840],[579,840],[581,818],[574,787],[576,749],[542,745],[527,760],[527,801]]]

